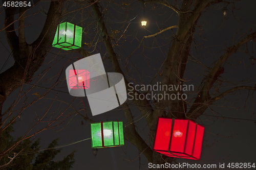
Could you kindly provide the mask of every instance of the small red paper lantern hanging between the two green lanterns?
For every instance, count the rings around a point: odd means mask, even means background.
[[[69,70],[69,87],[72,89],[89,89],[90,72],[86,69]]]

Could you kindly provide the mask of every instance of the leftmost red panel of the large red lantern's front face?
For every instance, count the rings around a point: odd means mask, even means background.
[[[170,143],[170,131],[172,130],[173,119],[159,118],[154,150],[168,151]]]

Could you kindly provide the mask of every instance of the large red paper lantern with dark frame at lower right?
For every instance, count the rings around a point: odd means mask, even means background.
[[[204,127],[189,120],[159,117],[154,151],[170,157],[200,160]]]

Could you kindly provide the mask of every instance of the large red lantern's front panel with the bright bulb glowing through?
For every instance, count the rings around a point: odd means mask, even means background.
[[[181,152],[184,153],[185,144],[186,144],[186,136],[187,136],[187,127],[188,120],[174,120],[174,128],[173,128],[173,136],[172,142],[170,144],[171,152]]]

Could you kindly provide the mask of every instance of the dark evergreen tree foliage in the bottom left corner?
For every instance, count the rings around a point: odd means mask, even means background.
[[[9,126],[3,131],[1,135],[1,152],[5,148],[10,148],[16,145],[22,137],[18,137],[14,140],[11,133],[14,132],[13,127]],[[61,152],[61,149],[54,149],[58,147],[58,140],[54,139],[47,147],[46,150],[38,152],[40,150],[40,138],[31,141],[31,139],[25,139],[19,142],[17,147],[11,151],[5,153],[5,156],[0,160],[0,165],[7,164],[11,159],[20,152],[3,170],[68,170],[73,167],[75,163],[75,152],[73,151],[63,160],[53,161],[55,156]]]

